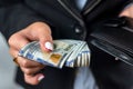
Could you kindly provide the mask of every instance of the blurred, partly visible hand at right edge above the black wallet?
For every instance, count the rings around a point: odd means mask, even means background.
[[[121,13],[120,17],[130,17],[133,18],[133,3],[127,6]]]

